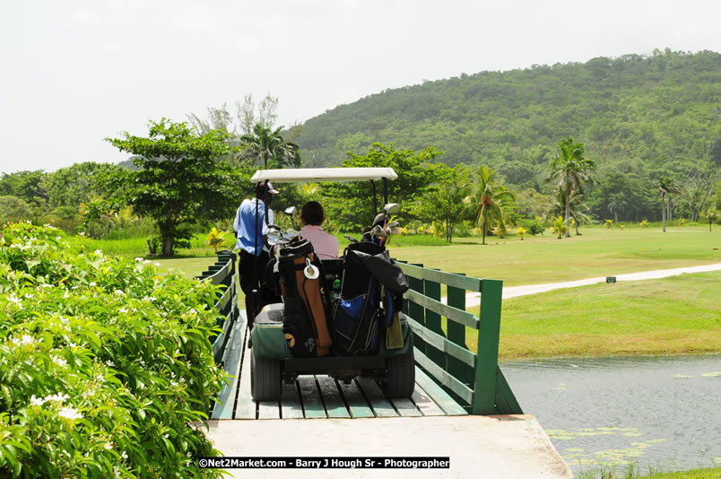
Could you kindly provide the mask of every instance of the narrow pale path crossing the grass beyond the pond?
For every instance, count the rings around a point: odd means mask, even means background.
[[[673,269],[658,269],[656,271],[643,271],[640,273],[630,274],[616,274],[616,281],[639,281],[647,279],[658,279],[665,278],[668,276],[675,276],[676,274],[684,273],[704,273],[707,271],[719,271],[721,270],[721,263],[715,265],[703,265],[703,266],[688,266],[682,268]],[[612,276],[613,274],[609,274]],[[503,299],[516,298],[517,296],[526,296],[526,294],[536,294],[538,292],[548,292],[552,290],[559,290],[561,288],[576,288],[577,286],[586,286],[588,284],[604,283],[606,281],[605,276],[599,276],[596,278],[587,278],[578,281],[567,281],[564,283],[545,283],[545,284],[529,284],[527,286],[510,286],[503,288]],[[442,299],[446,302],[446,299]],[[465,307],[472,308],[481,304],[481,293],[480,292],[469,292],[465,295]]]

